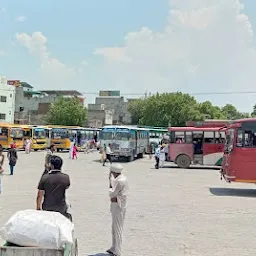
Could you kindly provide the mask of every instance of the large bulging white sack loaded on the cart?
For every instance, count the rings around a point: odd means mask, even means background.
[[[0,229],[5,241],[20,246],[64,248],[73,243],[73,223],[58,212],[16,212]]]

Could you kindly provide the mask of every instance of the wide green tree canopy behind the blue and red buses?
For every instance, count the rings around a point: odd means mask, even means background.
[[[210,101],[199,103],[193,96],[181,92],[157,93],[145,99],[131,101],[128,110],[132,124],[166,127],[185,126],[187,121],[234,120],[250,116],[249,113],[240,113],[231,104],[220,108]]]

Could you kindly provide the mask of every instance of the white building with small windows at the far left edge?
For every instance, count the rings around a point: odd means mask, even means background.
[[[15,87],[0,76],[0,122],[14,123]]]

